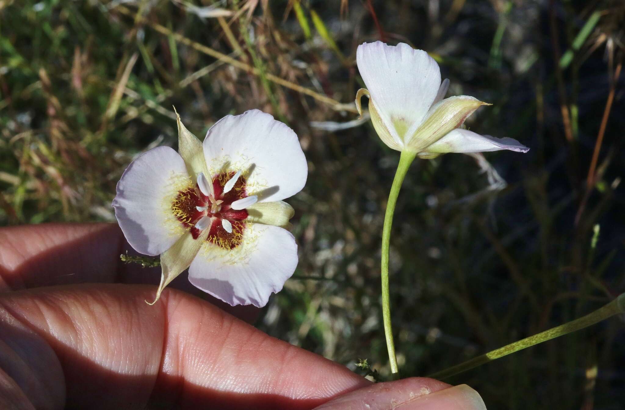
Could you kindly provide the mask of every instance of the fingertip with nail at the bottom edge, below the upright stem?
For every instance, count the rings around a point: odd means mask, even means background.
[[[378,383],[337,397],[315,410],[486,410],[482,397],[466,384],[424,377]]]

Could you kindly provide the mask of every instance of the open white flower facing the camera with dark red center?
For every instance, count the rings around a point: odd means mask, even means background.
[[[264,306],[297,266],[283,202],[306,183],[296,134],[258,110],[226,116],[202,144],[178,116],[179,154],[158,147],[131,163],[113,201],[136,251],[161,254],[163,288],[189,281],[231,305]],[[153,303],[154,303],[153,302]]]

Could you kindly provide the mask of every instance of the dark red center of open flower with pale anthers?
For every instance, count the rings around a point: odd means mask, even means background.
[[[216,174],[211,183],[204,174],[197,174],[196,186],[178,191],[171,210],[193,239],[209,229],[207,241],[223,249],[233,249],[243,239],[245,208],[254,202],[256,196],[247,195],[246,178],[241,176],[241,171]]]

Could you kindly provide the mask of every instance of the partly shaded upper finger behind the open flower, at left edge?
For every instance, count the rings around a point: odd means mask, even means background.
[[[159,267],[125,264],[119,254],[136,254],[117,224],[39,224],[0,229],[0,291],[76,283],[145,283],[158,285]],[[183,274],[169,285],[215,304],[247,322],[254,306],[230,306],[204,294]],[[154,295],[148,297],[154,299]]]

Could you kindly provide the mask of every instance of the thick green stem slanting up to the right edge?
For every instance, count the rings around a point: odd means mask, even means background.
[[[526,337],[525,339],[521,339],[504,347],[499,347],[499,349],[482,354],[482,356],[474,357],[464,363],[456,364],[456,366],[448,367],[442,371],[430,374],[427,377],[432,377],[434,379],[446,379],[447,377],[451,377],[474,367],[481,366],[482,364],[494,359],[499,359],[499,357],[504,357],[508,354],[525,349],[526,347],[534,346],[534,344],[539,344],[544,341],[554,339],[555,337],[564,336],[565,334],[584,329],[584,327],[591,326],[592,324],[601,322],[602,320],[614,316],[615,314],[624,312],[625,293],[622,293],[613,301],[603,307],[599,307],[599,309],[587,314],[586,316],[579,317],[579,319],[561,324],[560,326],[553,327],[552,329],[540,332],[539,334],[534,334],[534,336]]]

